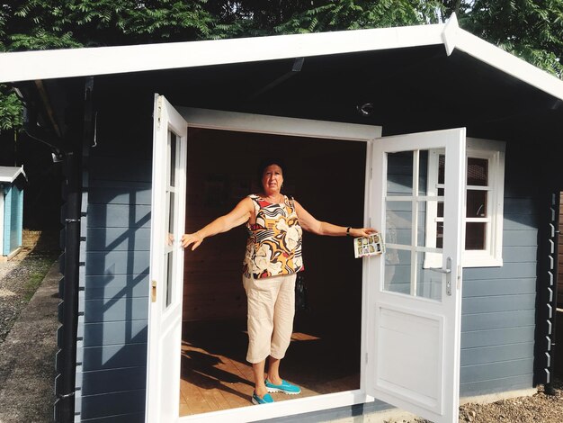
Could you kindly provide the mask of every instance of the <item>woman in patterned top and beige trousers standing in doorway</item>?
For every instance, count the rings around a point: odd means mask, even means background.
[[[299,202],[281,193],[280,160],[261,167],[263,193],[249,195],[228,214],[182,237],[182,246],[199,247],[203,239],[246,223],[248,240],[243,284],[248,300],[248,352],[255,378],[255,404],[273,402],[268,392],[298,394],[299,386],[283,381],[280,361],[290,345],[295,313],[295,280],[303,270],[302,229],[317,235],[367,237],[371,228],[345,228],[315,219]],[[266,358],[267,378],[264,378]]]

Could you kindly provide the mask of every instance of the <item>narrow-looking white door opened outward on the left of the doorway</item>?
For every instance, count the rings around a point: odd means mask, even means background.
[[[146,421],[178,419],[182,342],[186,121],[155,95]]]

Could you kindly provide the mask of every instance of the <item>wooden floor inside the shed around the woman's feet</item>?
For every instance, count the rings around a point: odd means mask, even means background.
[[[274,401],[360,388],[360,339],[339,330],[321,336],[294,332],[281,361],[281,377],[297,383],[297,395],[273,393]],[[339,333],[340,332],[340,333]],[[252,367],[246,362],[246,321],[183,325],[180,416],[251,405]]]

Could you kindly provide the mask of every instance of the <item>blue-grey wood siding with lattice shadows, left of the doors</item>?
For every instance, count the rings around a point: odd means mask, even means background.
[[[134,423],[145,419],[151,155],[107,129],[85,166],[76,412]]]

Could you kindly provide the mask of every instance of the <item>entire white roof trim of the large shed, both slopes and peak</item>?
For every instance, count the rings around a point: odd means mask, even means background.
[[[443,45],[563,100],[563,82],[448,23],[297,35],[0,54],[0,83],[308,58]]]

